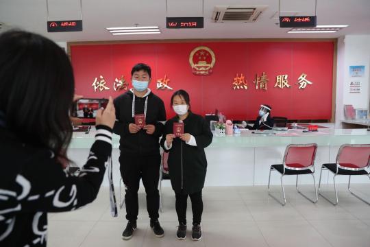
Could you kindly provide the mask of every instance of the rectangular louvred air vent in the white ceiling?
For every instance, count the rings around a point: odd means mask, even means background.
[[[214,22],[254,22],[267,6],[215,6],[212,14]]]

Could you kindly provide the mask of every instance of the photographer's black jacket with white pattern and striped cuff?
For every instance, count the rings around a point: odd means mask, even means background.
[[[97,197],[112,129],[97,126],[78,177],[66,174],[51,151],[22,143],[1,127],[0,137],[0,246],[46,246],[47,212],[73,211]]]

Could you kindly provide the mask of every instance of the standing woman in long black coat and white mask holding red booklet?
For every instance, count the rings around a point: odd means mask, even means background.
[[[210,145],[213,135],[206,120],[190,111],[190,99],[186,91],[176,91],[171,97],[171,106],[176,117],[169,119],[164,126],[161,145],[165,152],[169,152],[169,174],[176,195],[176,213],[179,220],[177,238],[186,237],[186,205],[189,196],[193,209],[192,239],[199,240],[203,212],[201,189],[204,187],[207,171],[204,148]],[[173,134],[174,123],[184,123],[180,126],[180,129],[184,130],[180,137]]]

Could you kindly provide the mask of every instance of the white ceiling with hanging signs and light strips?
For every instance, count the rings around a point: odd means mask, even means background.
[[[166,30],[165,0],[82,0],[83,32],[47,33],[47,0],[0,0],[0,22],[56,41],[145,40],[193,38],[337,38],[370,34],[370,0],[317,0],[317,25],[349,27],[332,34],[287,34],[272,16],[278,0],[204,0],[204,29]],[[314,0],[281,0],[282,11],[314,14]],[[256,23],[213,23],[215,5],[268,5]],[[168,0],[168,16],[201,16],[201,0]],[[49,0],[49,19],[80,19],[79,0]],[[162,34],[112,36],[106,27],[158,25]]]

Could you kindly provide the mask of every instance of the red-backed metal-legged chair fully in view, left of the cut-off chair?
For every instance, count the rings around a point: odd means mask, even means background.
[[[317,190],[316,190],[316,183],[314,181],[314,158],[316,156],[317,144],[291,144],[288,145],[285,149],[283,163],[277,165],[271,165],[270,172],[269,172],[269,185],[267,189],[269,191],[269,196],[280,202],[283,206],[286,204],[286,197],[283,185],[283,177],[284,176],[297,176],[295,180],[295,189],[297,192],[304,196],[304,198],[310,200],[312,203],[316,203],[318,200],[317,197]],[[277,171],[281,174],[280,183],[282,185],[282,201],[273,196],[270,193],[270,178],[271,178],[271,171]],[[314,182],[314,193],[316,198],[314,200],[308,198],[308,196],[304,195],[298,189],[298,176],[310,174],[312,175],[313,182]]]

